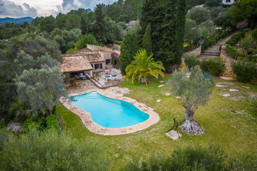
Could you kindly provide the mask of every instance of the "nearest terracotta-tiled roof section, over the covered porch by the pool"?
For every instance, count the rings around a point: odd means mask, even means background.
[[[76,72],[93,69],[87,57],[83,54],[67,54],[63,56],[62,62],[59,63],[61,72]]]

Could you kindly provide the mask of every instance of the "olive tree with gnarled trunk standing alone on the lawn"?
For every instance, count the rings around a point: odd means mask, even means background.
[[[186,75],[187,67],[181,72],[175,71],[167,85],[172,85],[172,94],[181,97],[180,100],[185,108],[185,120],[179,128],[187,134],[201,134],[203,129],[195,121],[194,114],[200,105],[206,105],[210,99],[212,79],[210,76],[204,76],[198,65],[191,68],[190,71],[189,76]]]

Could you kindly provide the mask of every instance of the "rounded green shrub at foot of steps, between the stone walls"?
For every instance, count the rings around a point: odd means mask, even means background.
[[[209,58],[208,60],[205,58],[201,61],[200,67],[204,72],[209,72],[212,75],[218,75],[223,71],[225,63],[221,58]]]

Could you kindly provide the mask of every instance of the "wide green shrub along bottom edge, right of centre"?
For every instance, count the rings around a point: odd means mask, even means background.
[[[209,147],[178,147],[169,156],[155,155],[139,161],[127,163],[121,170],[231,170],[234,166],[224,148],[214,143]]]

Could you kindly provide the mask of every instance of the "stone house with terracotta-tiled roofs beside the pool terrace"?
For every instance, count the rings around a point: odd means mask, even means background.
[[[92,76],[93,72],[113,68],[111,52],[114,50],[88,45],[86,48],[75,51],[75,53],[62,55],[62,62],[59,65],[63,73],[69,72],[71,75],[80,75],[83,72]]]

